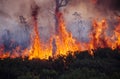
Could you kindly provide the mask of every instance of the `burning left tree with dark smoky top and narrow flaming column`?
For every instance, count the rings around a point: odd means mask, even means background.
[[[41,42],[40,36],[39,36],[39,29],[38,29],[38,11],[39,11],[39,6],[35,4],[32,7],[32,20],[33,20],[33,35],[34,37],[32,38],[32,46],[31,49],[29,50],[29,59],[33,58],[39,58],[39,59],[48,59],[49,56],[51,56],[51,47],[49,45],[44,45]],[[45,46],[48,46],[45,48]]]

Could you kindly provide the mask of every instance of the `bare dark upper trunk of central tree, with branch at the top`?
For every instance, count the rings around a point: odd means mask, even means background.
[[[60,8],[64,7],[68,4],[70,0],[55,0],[56,8],[55,8],[55,31],[58,33],[58,25],[59,25],[59,14],[60,14]]]

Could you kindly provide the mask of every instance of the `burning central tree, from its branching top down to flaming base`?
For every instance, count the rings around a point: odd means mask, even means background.
[[[67,55],[68,51],[79,50],[79,44],[76,44],[76,40],[72,37],[72,33],[66,30],[63,14],[60,12],[60,8],[68,4],[70,0],[55,0],[55,37],[53,39],[52,53],[56,55]]]

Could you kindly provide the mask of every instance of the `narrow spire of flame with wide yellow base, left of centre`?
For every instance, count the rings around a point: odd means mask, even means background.
[[[34,19],[34,18],[33,18]],[[33,44],[31,49],[29,50],[29,59],[33,58],[40,58],[40,59],[48,59],[49,56],[52,55],[51,53],[51,47],[44,48],[41,44],[40,37],[39,37],[39,31],[38,31],[38,24],[37,20],[34,19],[34,38],[33,38]]]

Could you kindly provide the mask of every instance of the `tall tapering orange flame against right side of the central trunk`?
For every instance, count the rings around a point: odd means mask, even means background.
[[[80,50],[80,45],[77,44],[72,34],[67,32],[62,13],[57,13],[58,18],[58,34],[55,36],[56,55],[67,55],[68,51]]]

